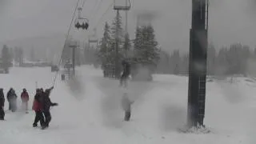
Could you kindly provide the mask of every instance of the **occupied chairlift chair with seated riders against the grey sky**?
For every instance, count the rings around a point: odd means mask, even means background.
[[[78,8],[78,18],[75,18],[74,26],[77,29],[82,28],[82,30],[87,30],[89,27],[89,20],[87,18],[82,17],[82,7]]]

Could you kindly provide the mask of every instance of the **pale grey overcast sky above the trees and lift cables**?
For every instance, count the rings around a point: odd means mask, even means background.
[[[87,0],[83,15],[95,26],[113,0]],[[122,1],[122,0],[118,0]],[[0,0],[0,42],[34,36],[65,34],[77,0]],[[158,18],[153,22],[159,44],[165,50],[188,50],[191,23],[191,0],[131,0],[129,32],[134,37],[134,15],[140,10],[151,10]],[[81,2],[82,5],[82,2]],[[99,10],[95,10],[95,6]],[[255,46],[256,6],[254,0],[210,0],[209,42],[216,46],[242,42]],[[122,12],[123,14],[123,12]],[[98,25],[111,22],[114,10],[108,10]],[[91,29],[90,29],[91,30]],[[86,39],[88,32],[72,30],[75,38]]]

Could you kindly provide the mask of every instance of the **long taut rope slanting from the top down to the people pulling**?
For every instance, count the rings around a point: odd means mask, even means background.
[[[66,39],[65,39],[64,46],[63,46],[63,49],[62,49],[62,54],[63,54],[63,51],[65,50],[67,39],[68,39],[69,36],[70,36],[71,26],[72,26],[72,24],[73,24],[75,12],[76,12],[76,10],[78,9],[78,3],[79,3],[79,2],[80,2],[80,0],[78,0],[77,5],[75,6],[75,9],[74,9],[74,14],[73,14],[73,16],[72,16],[72,19],[71,19],[71,22],[70,22],[70,27],[69,27],[69,29],[68,29],[68,31],[67,31],[67,34],[66,34]],[[58,62],[58,67],[60,66],[60,64],[61,64],[61,62],[62,62],[62,54],[61,54],[61,58],[59,59],[59,62]],[[58,70],[58,71],[59,71],[59,70]],[[53,82],[53,85],[52,85],[52,86],[54,86],[54,84],[55,84],[55,82],[56,82],[56,78],[57,78],[57,75],[58,75],[58,71],[56,71],[56,74],[55,74],[55,76],[54,76],[54,82]]]

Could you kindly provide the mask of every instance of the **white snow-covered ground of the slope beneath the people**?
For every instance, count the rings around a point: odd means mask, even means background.
[[[33,102],[38,87],[52,85],[50,68],[12,68],[0,75],[5,94],[10,87],[18,96],[26,87]],[[186,123],[188,78],[154,75],[154,82],[130,82],[134,99],[130,122],[123,122],[118,81],[102,78],[101,70],[78,68],[76,86],[80,93],[58,77],[51,94],[59,106],[51,109],[47,130],[33,128],[34,112],[11,113],[0,122],[1,144],[254,144],[256,143],[256,83],[249,78],[234,78],[233,83],[214,79],[207,82],[205,124],[210,134],[181,134]],[[20,98],[18,99],[20,103]]]

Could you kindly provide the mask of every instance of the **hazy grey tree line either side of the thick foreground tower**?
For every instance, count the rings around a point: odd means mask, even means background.
[[[208,75],[233,75],[246,76],[256,72],[256,48],[251,50],[249,46],[241,43],[233,43],[230,46],[216,50],[212,43],[207,50],[207,74]],[[158,62],[159,74],[188,74],[189,54],[181,54],[174,50],[171,54],[162,50]]]

